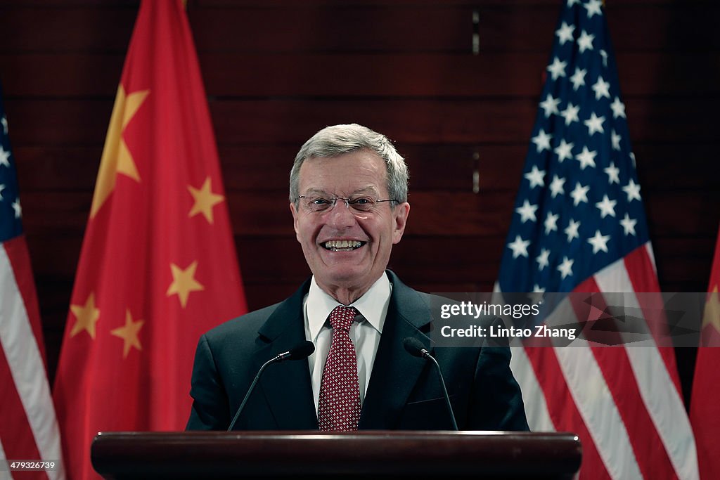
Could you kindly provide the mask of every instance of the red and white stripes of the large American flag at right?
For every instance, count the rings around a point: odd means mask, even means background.
[[[625,307],[648,309],[648,296],[634,292],[658,291],[649,243],[575,291],[627,292]],[[579,313],[566,298],[552,316],[567,324],[580,321]],[[604,347],[585,340],[573,345],[513,348],[510,367],[531,430],[577,433],[581,479],[698,479],[672,348],[652,340],[644,346]]]

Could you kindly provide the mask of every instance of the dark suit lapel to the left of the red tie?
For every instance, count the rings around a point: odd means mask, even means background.
[[[270,358],[294,348],[305,340],[302,300],[309,281],[268,317],[258,333],[261,345],[253,354],[256,368]],[[258,382],[279,430],[315,430],[318,416],[312,400],[307,360],[287,361],[268,366]]]

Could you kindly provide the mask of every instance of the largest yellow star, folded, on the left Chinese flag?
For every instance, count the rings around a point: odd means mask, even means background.
[[[143,104],[145,97],[149,93],[149,90],[135,91],[126,96],[122,84],[117,87],[117,96],[115,96],[115,104],[112,107],[110,125],[107,128],[107,137],[105,137],[105,146],[102,149],[100,170],[97,173],[95,182],[95,194],[92,199],[90,218],[95,217],[97,211],[114,190],[118,173],[127,175],[137,182],[140,181],[140,173],[138,173],[138,168],[135,166],[135,160],[132,160],[130,150],[127,150],[125,140],[122,138],[122,132],[135,113],[138,112],[140,105]]]

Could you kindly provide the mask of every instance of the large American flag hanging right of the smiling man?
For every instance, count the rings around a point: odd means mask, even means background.
[[[659,291],[600,0],[562,6],[545,74],[497,289]],[[580,478],[698,478],[672,348],[513,348],[512,368],[531,430],[580,436]]]

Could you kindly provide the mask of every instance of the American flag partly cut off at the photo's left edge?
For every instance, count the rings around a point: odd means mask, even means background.
[[[6,461],[42,460],[55,462],[55,470],[22,478],[60,479],[60,435],[8,130],[0,88],[0,477]]]

